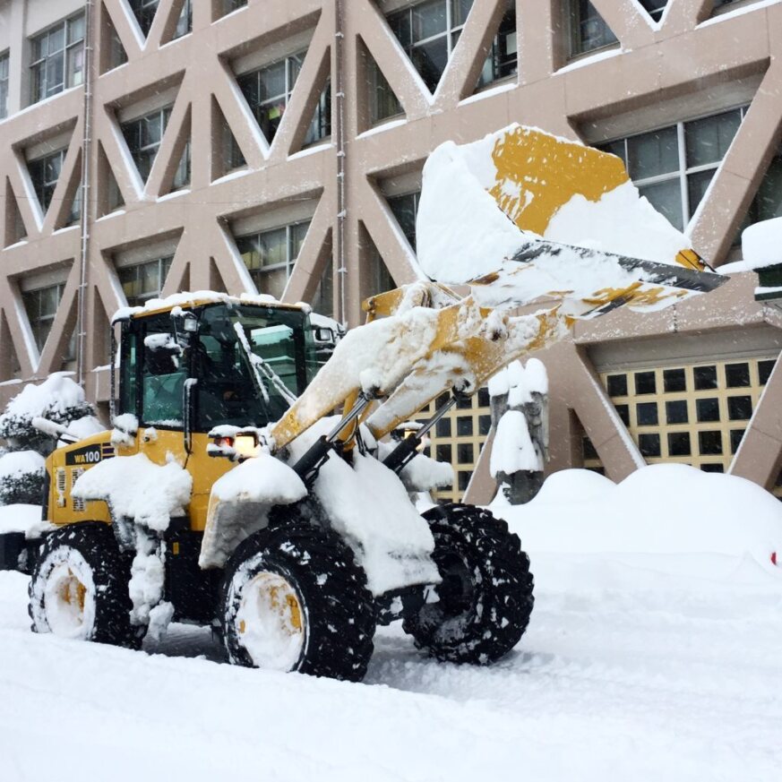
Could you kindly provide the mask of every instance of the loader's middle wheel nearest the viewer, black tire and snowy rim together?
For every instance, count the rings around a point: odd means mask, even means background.
[[[358,682],[372,657],[374,601],[353,552],[329,529],[262,529],[237,547],[221,635],[237,665]]]

